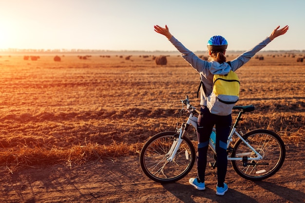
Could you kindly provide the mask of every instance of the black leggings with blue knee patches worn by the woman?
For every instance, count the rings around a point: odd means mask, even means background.
[[[227,140],[231,129],[232,117],[220,116],[210,113],[205,107],[201,109],[197,123],[197,173],[201,182],[205,181],[205,171],[207,166],[207,151],[209,148],[209,139],[213,126],[216,129],[216,154],[217,154],[217,179],[218,186],[223,186],[227,173]]]

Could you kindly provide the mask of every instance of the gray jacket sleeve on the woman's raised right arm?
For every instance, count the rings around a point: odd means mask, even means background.
[[[261,43],[257,44],[252,49],[248,50],[247,52],[243,53],[242,55],[239,55],[237,58],[232,60],[231,63],[231,69],[232,71],[236,71],[240,67],[242,67],[245,63],[247,63],[257,52],[259,52],[261,49],[267,46],[268,43],[270,43],[271,40],[269,37],[264,39]]]

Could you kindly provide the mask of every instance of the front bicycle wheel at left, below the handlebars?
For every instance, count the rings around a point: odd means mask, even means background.
[[[174,159],[168,161],[168,152],[177,136],[177,132],[161,132],[152,136],[143,146],[140,164],[143,172],[153,181],[178,181],[185,177],[194,165],[195,148],[187,137],[183,139]]]

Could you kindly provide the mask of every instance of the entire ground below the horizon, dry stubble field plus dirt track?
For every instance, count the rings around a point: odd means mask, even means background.
[[[189,95],[199,104],[199,76],[181,56],[169,56],[166,66],[155,65],[152,56],[53,57],[0,57],[2,202],[304,203],[305,63],[287,54],[265,55],[237,71],[237,105],[256,107],[240,129],[276,131],[286,160],[262,182],[236,177],[229,165],[223,198],[214,194],[213,169],[207,169],[210,186],[202,192],[188,184],[195,167],[178,183],[161,185],[138,163],[150,136],[175,129],[180,99]]]

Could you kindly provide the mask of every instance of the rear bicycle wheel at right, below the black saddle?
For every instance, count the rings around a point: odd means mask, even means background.
[[[266,129],[249,131],[244,136],[245,140],[263,157],[262,160],[231,161],[236,173],[241,177],[252,180],[264,180],[275,174],[285,160],[285,145],[280,136]],[[257,155],[242,141],[234,145],[232,157],[255,158]],[[247,162],[247,166],[245,166]]]

